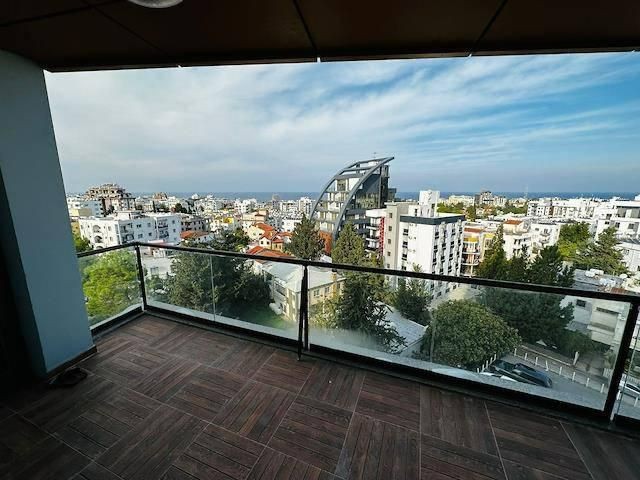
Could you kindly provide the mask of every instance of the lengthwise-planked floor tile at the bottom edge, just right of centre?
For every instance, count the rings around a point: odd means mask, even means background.
[[[416,480],[419,443],[416,431],[356,413],[335,474],[345,479]]]

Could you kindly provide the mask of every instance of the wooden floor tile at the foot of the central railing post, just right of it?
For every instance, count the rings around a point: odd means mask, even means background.
[[[356,406],[364,372],[329,362],[318,362],[300,395],[351,410]]]

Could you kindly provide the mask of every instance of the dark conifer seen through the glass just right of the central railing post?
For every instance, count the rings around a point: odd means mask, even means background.
[[[342,294],[335,301],[329,301],[330,310],[321,317],[324,327],[364,334],[360,337],[361,346],[373,343],[385,351],[395,352],[405,344],[404,338],[387,320],[389,307],[378,300],[368,277],[369,274],[347,274]]]

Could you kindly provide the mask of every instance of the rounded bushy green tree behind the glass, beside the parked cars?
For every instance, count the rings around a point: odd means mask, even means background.
[[[485,306],[450,300],[434,312],[421,340],[421,358],[475,369],[493,355],[501,357],[521,343],[518,332]]]

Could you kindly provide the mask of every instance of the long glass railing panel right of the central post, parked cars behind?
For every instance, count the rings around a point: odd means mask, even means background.
[[[310,343],[603,409],[629,304],[309,269]]]

